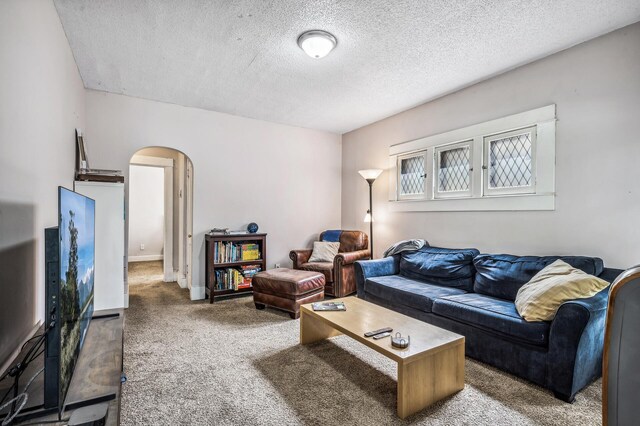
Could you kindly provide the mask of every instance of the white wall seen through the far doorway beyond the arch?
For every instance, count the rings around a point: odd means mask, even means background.
[[[141,244],[144,244],[144,250],[140,248]],[[131,165],[129,168],[129,261],[151,260],[149,256],[160,259],[163,244],[164,168]]]

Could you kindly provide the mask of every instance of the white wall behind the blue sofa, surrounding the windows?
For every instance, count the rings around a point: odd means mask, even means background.
[[[640,263],[640,23],[343,135],[342,227],[366,230],[367,184],[389,146],[557,104],[556,210],[394,213],[374,185],[375,251],[426,238],[444,247],[600,256]]]

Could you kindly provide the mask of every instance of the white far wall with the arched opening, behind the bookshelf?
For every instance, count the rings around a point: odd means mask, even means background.
[[[273,267],[340,226],[340,135],[91,90],[86,102],[92,167],[126,171],[147,146],[193,162],[194,298],[204,297],[204,234],[213,227],[258,223]]]

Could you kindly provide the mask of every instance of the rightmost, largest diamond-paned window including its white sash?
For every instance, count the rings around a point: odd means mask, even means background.
[[[484,193],[535,193],[536,128],[514,130],[484,138]]]

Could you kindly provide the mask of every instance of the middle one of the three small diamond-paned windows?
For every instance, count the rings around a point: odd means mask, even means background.
[[[470,197],[473,140],[434,149],[435,198]]]

